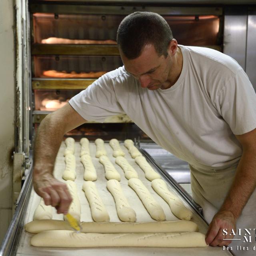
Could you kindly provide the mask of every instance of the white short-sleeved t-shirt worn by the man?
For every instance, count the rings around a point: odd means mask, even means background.
[[[166,90],[141,88],[124,67],[100,77],[69,103],[86,120],[126,113],[154,142],[194,168],[224,169],[240,160],[234,134],[256,128],[256,94],[231,57],[179,45],[183,66]]]

